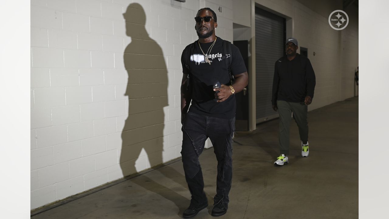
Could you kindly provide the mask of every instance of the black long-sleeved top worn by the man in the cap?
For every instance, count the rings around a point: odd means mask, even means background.
[[[279,101],[304,102],[306,96],[314,98],[315,72],[305,56],[296,54],[289,61],[286,56],[275,62],[272,105]]]

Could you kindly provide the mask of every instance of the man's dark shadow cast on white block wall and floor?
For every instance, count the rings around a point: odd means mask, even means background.
[[[121,170],[126,177],[137,173],[138,166],[143,170],[144,167],[152,168],[163,163],[163,108],[168,106],[168,76],[163,51],[145,29],[143,7],[138,3],[130,4],[123,16],[126,35],[131,37],[130,44],[124,50],[124,66],[128,73],[124,94],[128,96],[128,118],[121,134],[123,143],[120,155]],[[158,171],[175,183],[187,186],[185,177],[173,168],[164,166]],[[175,203],[179,215],[187,207],[184,205],[189,203],[186,197],[145,175],[131,181]]]

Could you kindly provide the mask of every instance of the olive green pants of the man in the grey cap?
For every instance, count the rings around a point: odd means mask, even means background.
[[[280,153],[289,154],[289,128],[291,123],[291,113],[298,126],[300,140],[304,143],[308,141],[308,106],[304,102],[277,101],[278,113],[280,115],[279,142]]]

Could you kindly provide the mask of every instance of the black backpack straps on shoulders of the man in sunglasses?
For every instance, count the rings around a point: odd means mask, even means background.
[[[190,62],[190,57],[191,55],[193,55],[193,51],[195,50],[195,43],[197,41],[193,42],[191,44],[191,46],[189,47],[186,47],[183,51],[184,53],[184,64],[185,64],[185,67],[189,70],[189,74],[187,75],[187,80],[186,80],[186,87],[187,89],[189,89],[189,79],[190,79],[190,71],[191,69],[189,68],[189,62]],[[226,65],[227,65],[227,69],[228,69],[228,75],[230,76],[230,84],[229,85],[232,85],[232,83],[235,81],[235,78],[234,76],[231,74],[231,62],[232,62],[232,52],[231,52],[231,42],[230,41],[226,41],[226,40],[223,40],[223,56],[218,58],[219,62],[225,58],[228,58],[227,59],[227,62],[226,62]]]

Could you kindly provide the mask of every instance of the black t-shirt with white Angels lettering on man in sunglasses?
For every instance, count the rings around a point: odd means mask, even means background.
[[[231,73],[233,75],[242,74],[247,71],[242,55],[239,49],[231,44],[231,57],[224,58],[219,61],[218,58],[223,54],[223,39],[217,37],[216,42],[212,48],[213,42],[200,43],[204,53],[207,53],[211,64],[205,62],[205,57],[200,50],[198,41],[195,42],[193,55],[190,57],[190,84],[192,87],[192,102],[189,112],[198,113],[201,115],[208,115],[216,118],[230,119],[235,117],[236,101],[235,95],[231,95],[223,102],[216,102],[213,85],[218,81],[220,84],[228,84],[230,76],[228,75],[227,60],[232,58]],[[187,46],[190,48],[191,44]],[[188,49],[189,49],[188,48]],[[184,53],[181,56],[182,72],[189,73],[189,69],[185,67]]]

